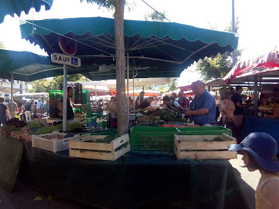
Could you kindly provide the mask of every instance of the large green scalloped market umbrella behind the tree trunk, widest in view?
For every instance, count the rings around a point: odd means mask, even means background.
[[[92,80],[115,79],[114,19],[82,17],[36,20],[35,35],[31,36],[31,21],[22,22],[22,38],[40,45],[47,54],[63,53],[59,36],[75,34],[82,67],[106,65],[91,73],[80,72]],[[238,45],[234,33],[200,29],[172,22],[124,20],[126,54],[137,77],[179,77],[194,61],[218,52],[232,52]],[[138,70],[137,70],[138,69]],[[89,70],[87,70],[89,72]]]

